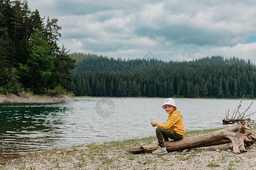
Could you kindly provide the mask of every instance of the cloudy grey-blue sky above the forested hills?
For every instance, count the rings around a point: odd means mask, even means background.
[[[220,55],[256,63],[256,1],[28,0],[59,19],[69,53],[189,61]]]

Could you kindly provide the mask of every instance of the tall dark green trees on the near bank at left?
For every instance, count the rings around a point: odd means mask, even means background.
[[[0,94],[65,94],[75,60],[57,44],[57,21],[27,1],[0,1]]]

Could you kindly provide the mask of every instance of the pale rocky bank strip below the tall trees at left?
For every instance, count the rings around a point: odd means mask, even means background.
[[[71,95],[39,96],[26,92],[22,92],[19,96],[14,94],[0,95],[0,103],[64,103],[71,101],[76,101]]]

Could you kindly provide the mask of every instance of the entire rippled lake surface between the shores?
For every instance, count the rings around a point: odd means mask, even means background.
[[[166,122],[164,99],[78,98],[60,104],[0,104],[0,158],[92,142],[155,135],[151,121]],[[222,119],[240,100],[175,99],[185,129],[224,128]],[[245,111],[253,100],[243,100]],[[254,100],[255,101],[255,100]],[[247,113],[256,111],[251,105]],[[255,120],[254,114],[250,118]],[[230,126],[230,125],[229,125]]]

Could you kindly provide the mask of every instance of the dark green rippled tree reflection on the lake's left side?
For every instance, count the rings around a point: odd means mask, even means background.
[[[59,138],[59,112],[65,107],[54,104],[1,104],[0,156],[38,151],[53,146]]]

